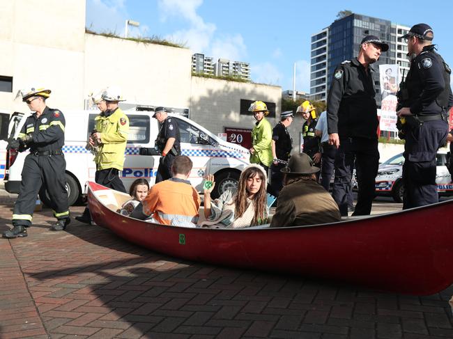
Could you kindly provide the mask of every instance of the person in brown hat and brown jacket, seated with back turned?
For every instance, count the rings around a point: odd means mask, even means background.
[[[290,227],[334,223],[341,215],[332,196],[316,182],[319,168],[305,153],[293,155],[282,168],[284,187],[270,227]]]

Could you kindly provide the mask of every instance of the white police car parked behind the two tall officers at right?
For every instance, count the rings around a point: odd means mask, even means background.
[[[453,183],[445,166],[447,151],[438,150],[436,155],[436,184],[439,196],[452,196]],[[376,196],[392,196],[397,203],[403,202],[403,153],[399,153],[379,165],[376,176]]]

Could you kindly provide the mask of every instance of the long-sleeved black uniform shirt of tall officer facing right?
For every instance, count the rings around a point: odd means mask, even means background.
[[[353,58],[337,66],[327,99],[328,133],[377,139],[378,111],[374,68]]]

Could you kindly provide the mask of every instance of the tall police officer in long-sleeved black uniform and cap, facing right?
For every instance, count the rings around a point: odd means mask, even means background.
[[[330,85],[327,102],[329,143],[338,149],[332,196],[342,216],[348,215],[354,163],[359,192],[353,215],[371,212],[379,152],[375,71],[370,65],[387,50],[385,42],[376,36],[366,36],[360,42],[358,57],[338,65]]]

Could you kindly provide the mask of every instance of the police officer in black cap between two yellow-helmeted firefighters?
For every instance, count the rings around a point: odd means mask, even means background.
[[[293,111],[285,111],[280,114],[280,121],[272,129],[272,178],[270,180],[271,194],[278,196],[283,187],[283,173],[280,171],[290,157],[293,149],[293,138],[289,134],[288,127],[293,122]],[[280,162],[285,161],[285,162]]]

